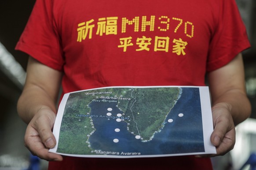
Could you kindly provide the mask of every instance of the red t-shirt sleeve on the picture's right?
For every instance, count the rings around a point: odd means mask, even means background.
[[[208,53],[207,71],[228,64],[238,53],[250,47],[245,25],[235,0],[220,0],[219,18]]]

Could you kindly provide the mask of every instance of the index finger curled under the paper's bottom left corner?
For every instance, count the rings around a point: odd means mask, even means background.
[[[62,156],[48,152],[44,144],[41,142],[40,136],[37,131],[29,126],[26,130],[25,145],[32,152],[33,155],[48,161],[61,161]]]

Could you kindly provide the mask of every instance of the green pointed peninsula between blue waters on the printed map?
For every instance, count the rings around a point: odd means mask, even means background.
[[[161,128],[178,94],[178,88],[134,89],[132,96],[136,102],[128,103],[125,114],[134,118],[129,122],[129,131],[140,135],[143,140],[149,140]]]

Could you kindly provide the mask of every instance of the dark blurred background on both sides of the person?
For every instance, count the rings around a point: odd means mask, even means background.
[[[34,3],[35,0],[0,0],[0,170],[25,170],[32,163],[40,170],[48,166],[46,161],[33,159],[24,146],[26,124],[16,111],[28,56],[14,48]],[[215,170],[238,170],[249,156],[254,158],[256,152],[256,0],[237,0],[237,4],[252,44],[252,48],[243,53],[252,115],[238,125],[234,150],[212,159]]]

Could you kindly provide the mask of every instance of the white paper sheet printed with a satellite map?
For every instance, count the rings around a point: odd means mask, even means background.
[[[49,152],[135,158],[214,154],[206,86],[118,86],[67,93]]]

